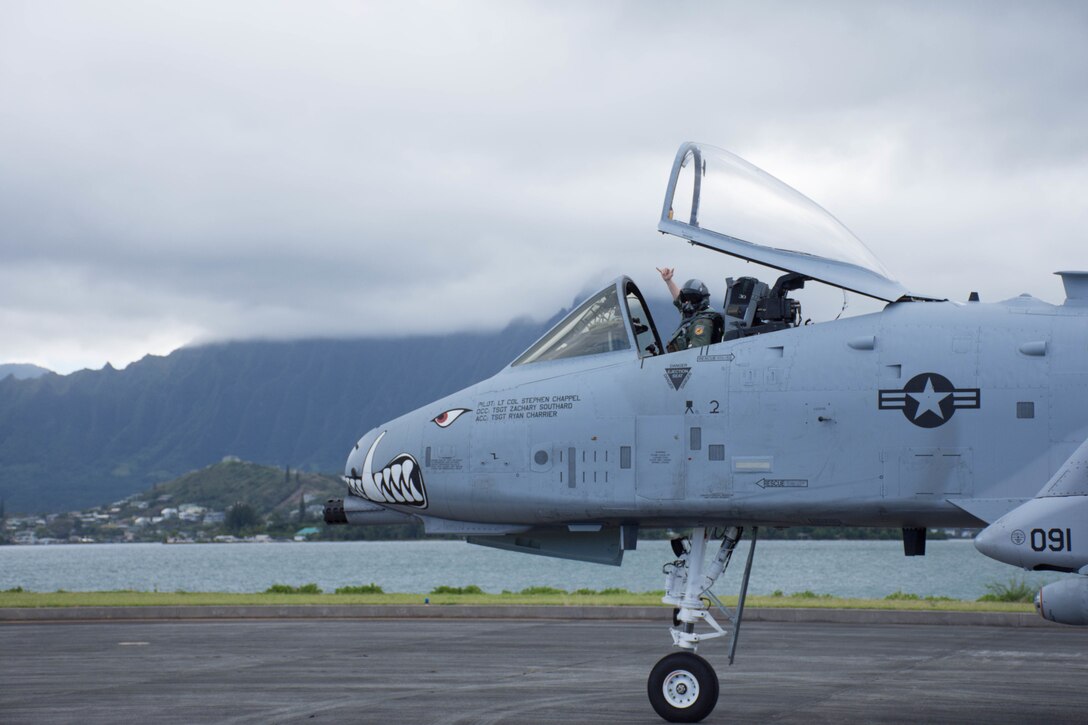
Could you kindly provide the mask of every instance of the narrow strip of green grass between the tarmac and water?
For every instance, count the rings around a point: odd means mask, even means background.
[[[466,590],[468,587],[446,587]],[[664,592],[632,593],[623,590],[579,590],[577,592],[552,591],[551,588],[530,587],[529,591],[547,589],[545,593],[504,592],[502,594],[480,593],[430,593],[405,594],[381,591],[359,593],[299,593],[304,587],[289,587],[292,593],[247,593],[223,592],[147,592],[147,591],[95,591],[95,592],[32,592],[0,591],[0,607],[45,607],[45,606],[228,606],[228,605],[283,605],[283,604],[536,604],[546,606],[654,606],[662,605]],[[375,587],[381,589],[380,587]],[[367,590],[370,587],[343,588]],[[438,587],[436,589],[443,589]],[[722,601],[734,605],[737,598],[725,597]],[[662,605],[663,606],[663,605]],[[960,600],[922,599],[895,592],[894,599],[840,599],[823,594],[801,592],[800,595],[766,595],[747,598],[747,606],[779,609],[843,609],[843,610],[923,610],[944,612],[1033,612],[1029,603],[1019,602],[965,602]]]

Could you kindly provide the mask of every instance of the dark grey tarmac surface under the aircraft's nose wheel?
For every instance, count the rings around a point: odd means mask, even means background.
[[[0,625],[0,722],[659,723],[667,625],[236,620]],[[750,623],[706,723],[1085,722],[1077,628]]]

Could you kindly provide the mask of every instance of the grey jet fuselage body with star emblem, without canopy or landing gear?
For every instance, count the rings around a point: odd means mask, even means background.
[[[425,496],[355,492],[511,531],[980,526],[1083,442],[1086,341],[1088,307],[912,302],[666,355],[516,365],[359,442],[354,459],[383,434],[371,477],[415,456]]]

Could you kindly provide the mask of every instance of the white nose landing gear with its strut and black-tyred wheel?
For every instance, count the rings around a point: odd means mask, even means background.
[[[662,601],[676,607],[672,616],[673,626],[669,631],[672,635],[672,643],[681,651],[666,655],[654,665],[646,683],[650,704],[658,715],[670,723],[697,723],[709,715],[718,703],[718,676],[706,660],[695,654],[695,649],[703,640],[728,635],[729,664],[733,663],[758,531],[758,527],[752,529],[752,545],[749,548],[747,561],[744,564],[740,597],[737,609],[732,612],[721,603],[710,588],[729,566],[733,549],[737,548],[743,529],[731,526],[720,534],[721,546],[709,566],[705,567],[705,572],[703,560],[706,554],[706,543],[710,538],[717,539],[717,534],[710,536],[705,527],[698,527],[692,531],[690,539],[677,539],[672,542],[677,560],[665,565],[665,597]],[[714,618],[709,611],[712,604],[728,623],[732,624],[731,630],[725,629]],[[700,622],[705,623],[710,631],[695,632],[695,625]]]

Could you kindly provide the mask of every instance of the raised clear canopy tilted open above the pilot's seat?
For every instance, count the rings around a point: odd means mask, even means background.
[[[787,272],[894,302],[911,293],[818,204],[729,151],[677,151],[658,231]]]

